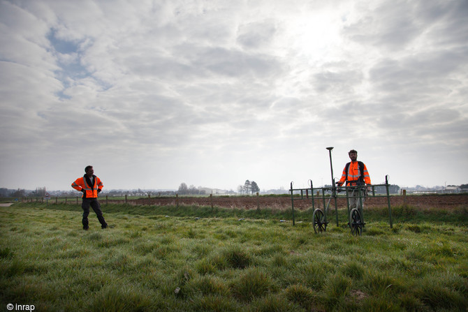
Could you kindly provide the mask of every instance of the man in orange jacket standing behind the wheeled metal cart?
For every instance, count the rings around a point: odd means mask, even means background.
[[[367,167],[362,161],[358,161],[358,152],[354,149],[351,149],[348,153],[349,159],[351,159],[350,163],[346,163],[343,169],[342,177],[337,181],[338,186],[342,186],[344,182],[346,182],[346,186],[361,186],[361,185],[371,185],[370,175],[367,171]],[[367,187],[363,194],[361,194],[363,200],[363,207],[365,198],[367,197],[367,191],[369,187]],[[352,208],[360,207],[360,198],[359,198],[359,191],[354,190],[351,191],[351,196],[349,198],[349,205]]]

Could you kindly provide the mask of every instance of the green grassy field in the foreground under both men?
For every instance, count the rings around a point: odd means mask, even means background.
[[[467,311],[468,210],[344,212],[103,205],[0,207],[0,311]],[[286,220],[280,222],[280,220]]]

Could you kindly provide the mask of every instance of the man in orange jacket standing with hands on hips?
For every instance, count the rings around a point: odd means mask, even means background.
[[[105,223],[103,211],[101,211],[101,205],[98,202],[98,193],[103,189],[103,182],[101,179],[94,175],[94,170],[92,165],[88,165],[85,168],[85,175],[76,179],[71,187],[75,188],[76,191],[83,193],[82,195],[82,204],[83,209],[83,230],[88,230],[88,216],[89,216],[89,207],[91,206],[96,216],[98,217],[99,223],[101,223],[101,228],[107,228],[108,223]]]

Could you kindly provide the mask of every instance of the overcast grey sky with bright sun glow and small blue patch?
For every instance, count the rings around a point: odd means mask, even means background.
[[[0,0],[0,187],[468,183],[466,0]]]

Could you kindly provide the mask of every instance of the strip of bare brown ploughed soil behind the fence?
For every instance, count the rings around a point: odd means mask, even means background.
[[[110,202],[111,200],[109,200]],[[113,202],[113,201],[112,201]],[[122,202],[122,201],[121,201]],[[139,200],[128,200],[134,205],[199,205],[214,207],[226,207],[237,209],[256,209],[260,208],[273,208],[273,209],[291,209],[291,197],[268,197],[268,196],[232,196],[232,197],[161,197],[161,198],[142,198]],[[323,207],[323,199],[315,198],[315,207]],[[328,200],[327,200],[328,202]],[[419,207],[421,209],[453,209],[456,207],[468,207],[468,193],[462,195],[393,195],[390,196],[390,205],[410,205]],[[365,207],[387,207],[386,196],[372,197],[370,196],[365,201]],[[312,207],[312,198],[304,199],[295,198],[295,209],[309,209]],[[330,207],[335,207],[335,202],[332,199]],[[337,207],[346,207],[346,198],[337,199]]]

